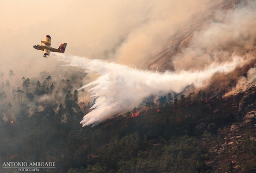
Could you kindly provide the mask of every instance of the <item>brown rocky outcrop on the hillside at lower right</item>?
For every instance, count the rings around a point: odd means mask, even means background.
[[[246,140],[256,141],[255,101],[255,87],[251,87],[246,90],[239,103],[238,112],[241,116],[241,121],[232,123],[228,129],[222,130],[221,133],[224,135],[221,142],[210,150],[211,158],[206,162],[209,166],[223,170],[223,167],[228,164],[228,169],[232,170],[231,172],[243,172],[241,169],[242,163],[255,162],[255,157],[253,156],[251,156],[250,160],[244,158],[246,155],[244,150],[247,147],[245,145],[247,143]]]

